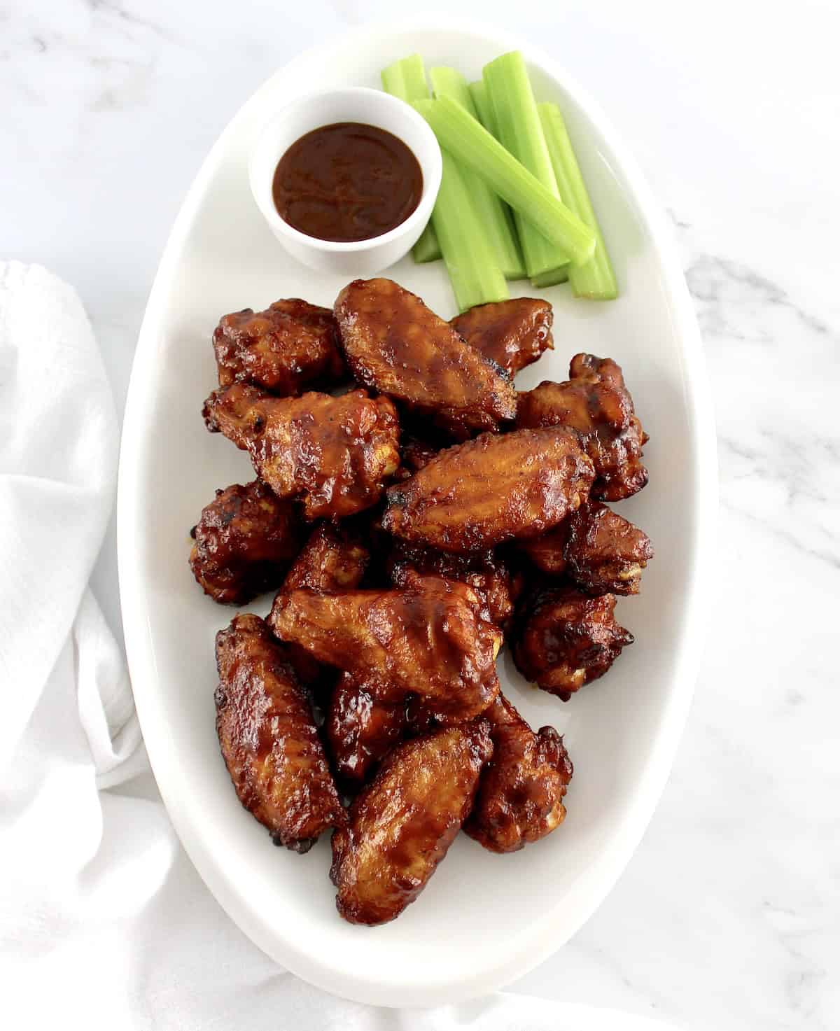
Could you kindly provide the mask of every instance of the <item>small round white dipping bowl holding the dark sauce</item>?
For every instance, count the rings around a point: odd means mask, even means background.
[[[335,242],[307,236],[283,222],[272,187],[277,162],[301,136],[336,122],[361,122],[398,136],[419,163],[423,194],[411,214],[394,229],[369,240]],[[393,265],[423,232],[440,188],[440,147],[428,123],[413,107],[378,90],[351,87],[310,93],[283,107],[263,128],[248,162],[250,191],[271,231],[302,265],[318,272],[370,275]]]

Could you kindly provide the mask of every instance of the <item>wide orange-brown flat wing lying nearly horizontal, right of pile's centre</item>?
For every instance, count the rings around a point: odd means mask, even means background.
[[[586,498],[594,475],[578,438],[563,427],[484,433],[395,484],[382,526],[444,552],[495,547],[557,526]]]

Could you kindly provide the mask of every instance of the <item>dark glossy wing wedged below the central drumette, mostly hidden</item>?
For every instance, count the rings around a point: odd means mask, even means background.
[[[406,701],[377,701],[365,680],[341,674],[330,699],[326,728],[333,769],[342,780],[361,784],[402,740],[408,723]]]

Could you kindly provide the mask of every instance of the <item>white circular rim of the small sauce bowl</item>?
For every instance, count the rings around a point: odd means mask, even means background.
[[[302,57],[303,55],[300,56]],[[297,60],[297,58],[293,60]],[[282,70],[285,67],[283,66]],[[259,87],[258,92],[261,89],[262,87]],[[293,117],[301,108],[311,105],[313,101],[328,97],[366,97],[383,107],[390,107],[399,114],[399,118],[402,118],[406,123],[411,125],[421,137],[425,138],[425,153],[421,155],[417,154],[415,147],[404,139],[399,132],[393,132],[393,135],[397,136],[411,151],[417,164],[421,166],[421,171],[423,172],[423,192],[414,210],[406,219],[403,219],[399,225],[394,226],[393,229],[389,229],[387,233],[380,233],[378,236],[370,236],[364,240],[323,240],[317,236],[309,236],[307,233],[301,232],[299,229],[291,226],[280,215],[279,211],[277,211],[274,206],[271,184],[269,182],[267,186],[264,184],[263,177],[256,167],[258,164],[261,164],[263,147],[268,145],[267,140],[270,139],[278,126],[282,125],[283,122]],[[234,121],[238,115],[239,112],[231,121]],[[324,123],[324,125],[330,124],[329,122]],[[320,126],[313,126],[312,129],[308,129],[306,132],[312,132],[317,128]],[[392,130],[389,129],[388,132],[392,132]],[[288,240],[298,245],[302,244],[313,247],[327,254],[363,254],[374,250],[380,244],[388,244],[402,236],[408,235],[417,227],[419,222],[426,225],[437,199],[442,174],[443,158],[440,153],[440,144],[426,119],[422,114],[418,114],[410,104],[407,104],[404,100],[400,100],[399,97],[394,97],[383,90],[374,90],[368,86],[346,86],[333,90],[315,90],[293,98],[289,103],[278,108],[270,118],[266,119],[251,142],[248,157],[248,182],[251,195],[261,214],[274,233],[284,236]]]

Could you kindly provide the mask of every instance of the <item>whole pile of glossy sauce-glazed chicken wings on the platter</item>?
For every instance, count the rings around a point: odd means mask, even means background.
[[[516,667],[568,701],[632,643],[650,541],[604,502],[647,483],[620,368],[552,347],[529,298],[439,319],[390,279],[334,309],[225,315],[204,421],[256,478],[216,492],[190,565],[213,600],[277,591],[216,635],[216,729],[245,808],[306,852],[332,828],[347,921],[393,920],[464,830],[513,852],[566,814],[572,764],[499,690]]]

